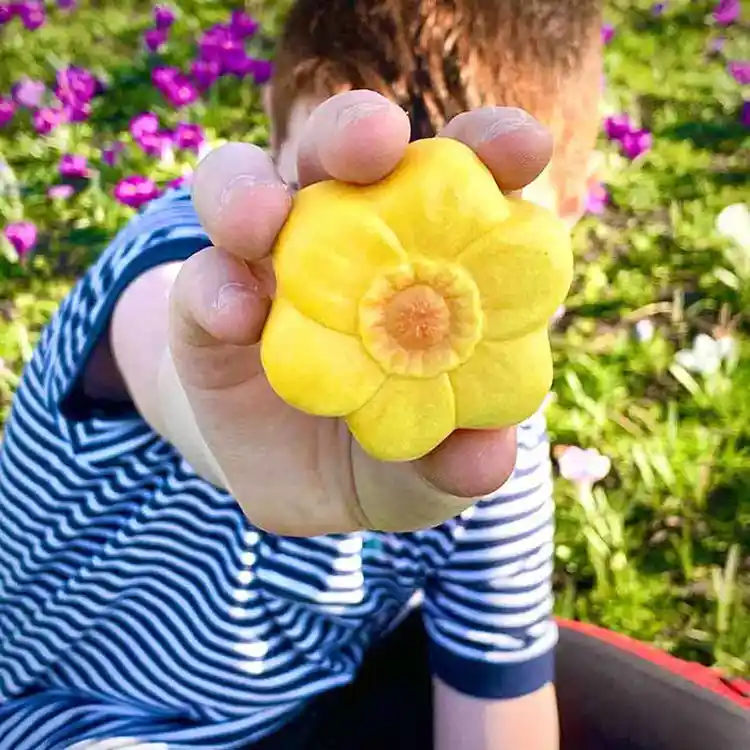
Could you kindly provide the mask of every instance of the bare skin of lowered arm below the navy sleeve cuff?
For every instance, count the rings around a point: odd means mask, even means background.
[[[555,688],[509,700],[463,695],[435,680],[435,750],[557,750]]]

